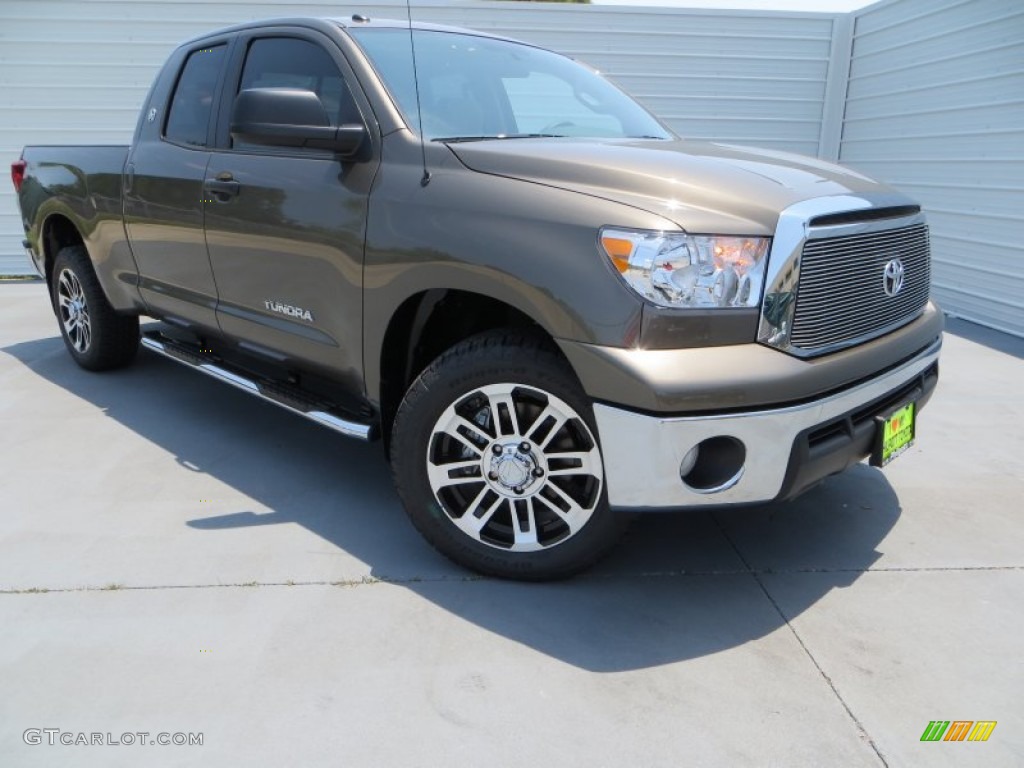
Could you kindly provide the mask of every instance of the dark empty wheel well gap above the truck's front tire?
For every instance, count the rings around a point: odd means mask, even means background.
[[[380,406],[385,446],[401,398],[416,377],[463,339],[499,328],[532,329],[551,338],[515,307],[466,291],[425,291],[398,307],[381,349]],[[558,349],[553,341],[551,346]]]

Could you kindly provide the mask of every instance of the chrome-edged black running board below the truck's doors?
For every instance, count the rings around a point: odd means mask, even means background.
[[[355,437],[359,440],[373,440],[377,437],[373,424],[361,424],[344,418],[331,406],[310,397],[298,387],[252,379],[247,374],[231,370],[230,366],[223,360],[218,359],[214,362],[210,357],[197,351],[198,348],[170,339],[159,332],[143,334],[141,342],[145,348],[165,357],[170,357],[176,362],[226,382],[232,387],[254,394],[267,402],[291,411],[293,414],[303,416],[328,429],[340,432],[346,437]]]

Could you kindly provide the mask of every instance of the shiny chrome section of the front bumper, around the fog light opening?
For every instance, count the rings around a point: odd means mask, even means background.
[[[811,402],[723,416],[658,417],[597,403],[608,501],[612,507],[656,509],[771,501],[783,488],[801,432],[896,392],[932,367],[941,339],[910,360],[863,384]],[[745,449],[738,471],[696,489],[680,465],[703,440],[732,438]]]

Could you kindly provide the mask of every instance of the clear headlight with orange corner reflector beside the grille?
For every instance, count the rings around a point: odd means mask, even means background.
[[[600,241],[630,287],[658,306],[702,309],[761,303],[768,238],[605,227]]]

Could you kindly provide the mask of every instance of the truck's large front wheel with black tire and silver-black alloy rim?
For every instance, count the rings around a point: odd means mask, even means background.
[[[563,579],[620,539],[593,410],[545,340],[488,332],[434,360],[395,417],[395,486],[417,529],[472,570]]]

